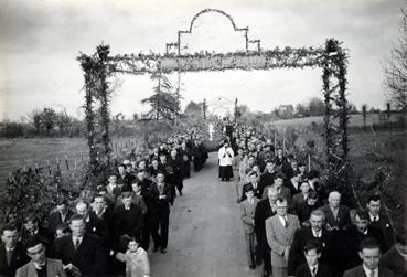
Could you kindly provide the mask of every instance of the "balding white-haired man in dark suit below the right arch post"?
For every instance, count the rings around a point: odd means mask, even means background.
[[[341,193],[332,191],[328,195],[328,204],[321,207],[325,213],[329,230],[343,231],[352,226],[349,207],[340,203]]]

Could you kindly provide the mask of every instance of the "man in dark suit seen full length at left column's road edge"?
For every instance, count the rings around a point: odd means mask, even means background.
[[[151,234],[154,241],[153,252],[161,248],[161,253],[167,253],[168,230],[170,221],[170,203],[173,201],[171,188],[164,182],[165,175],[162,171],[157,174],[157,183],[151,184]],[[160,230],[160,233],[159,233]]]

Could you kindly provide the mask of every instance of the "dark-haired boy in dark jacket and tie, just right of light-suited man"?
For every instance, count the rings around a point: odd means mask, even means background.
[[[311,239],[303,247],[303,255],[307,263],[299,266],[294,277],[330,277],[331,273],[328,267],[320,264],[322,254],[322,245],[319,241]],[[291,276],[289,274],[289,276]]]

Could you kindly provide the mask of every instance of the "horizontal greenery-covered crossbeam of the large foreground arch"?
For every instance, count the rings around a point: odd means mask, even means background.
[[[272,70],[322,66],[324,50],[313,47],[256,52],[200,53],[193,55],[149,54],[116,55],[108,57],[115,73],[153,74],[156,72],[200,72],[225,70]]]

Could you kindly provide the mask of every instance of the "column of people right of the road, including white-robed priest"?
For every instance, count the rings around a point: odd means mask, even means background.
[[[255,128],[227,134],[218,159],[222,181],[237,175],[250,269],[263,264],[263,276],[272,277],[407,276],[406,233],[394,231],[379,193],[351,212],[319,171]]]

